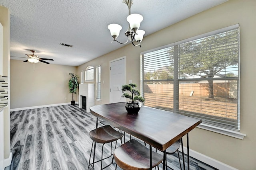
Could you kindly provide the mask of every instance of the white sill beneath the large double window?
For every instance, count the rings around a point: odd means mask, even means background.
[[[208,125],[208,124],[205,124],[205,123],[201,123],[197,127],[200,128],[200,129],[220,133],[222,135],[227,135],[227,136],[230,136],[230,137],[234,137],[234,138],[237,138],[237,139],[242,139],[243,140],[244,137],[246,137],[246,134],[244,134],[244,133],[240,133],[238,131],[232,131],[232,130],[229,130],[229,129],[224,129],[224,128],[221,128],[221,127],[216,127],[216,126],[213,126],[213,125]]]

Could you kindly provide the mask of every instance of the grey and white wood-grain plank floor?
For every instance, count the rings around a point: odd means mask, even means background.
[[[11,165],[5,170],[87,170],[92,145],[89,132],[95,129],[95,125],[96,117],[78,108],[78,105],[13,111],[13,156]],[[126,140],[128,138],[126,136]],[[104,154],[110,151],[110,145],[105,145]],[[101,146],[97,145],[96,159],[99,159],[100,155]],[[104,164],[110,161],[104,161]],[[168,155],[168,165],[174,170],[180,169],[177,154]],[[94,169],[99,170],[99,167],[100,164],[96,164]],[[106,169],[114,170],[115,165]],[[190,158],[190,169],[214,168]]]

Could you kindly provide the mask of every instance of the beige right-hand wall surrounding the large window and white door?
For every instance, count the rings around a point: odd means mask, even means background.
[[[102,66],[102,101],[109,102],[109,61],[126,56],[126,83],[140,85],[140,52],[161,47],[182,39],[240,23],[241,57],[241,133],[244,140],[196,128],[190,133],[190,149],[210,156],[240,170],[256,169],[256,1],[230,0],[170,27],[148,35],[142,48],[126,45],[78,67]],[[175,17],[175,16],[173,16]],[[143,24],[143,22],[142,22]],[[157,24],[157,23],[156,23]],[[146,29],[145,29],[146,30]],[[122,33],[120,34],[122,36]],[[110,42],[109,42],[110,43]],[[113,43],[112,45],[115,45]],[[250,76],[252,75],[252,76]],[[140,88],[140,86],[138,86]]]

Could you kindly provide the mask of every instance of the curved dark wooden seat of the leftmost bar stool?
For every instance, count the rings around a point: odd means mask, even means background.
[[[94,129],[89,134],[90,138],[96,143],[110,143],[124,136],[124,134],[114,130],[110,125]]]

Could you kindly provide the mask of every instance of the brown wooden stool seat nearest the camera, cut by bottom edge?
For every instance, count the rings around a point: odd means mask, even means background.
[[[152,151],[152,168],[160,164],[163,156]],[[150,170],[150,149],[132,139],[114,150],[116,165],[124,170]],[[117,166],[116,166],[117,167]]]

